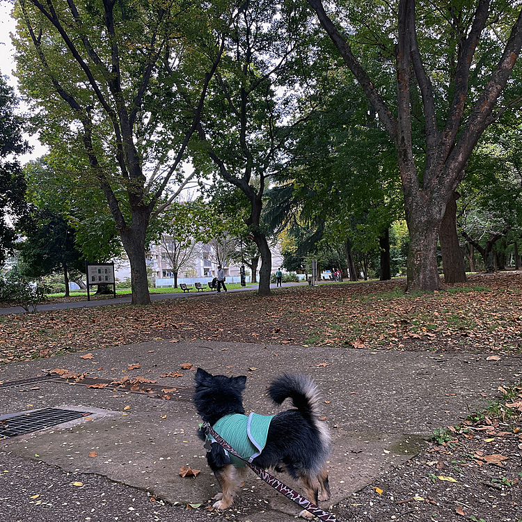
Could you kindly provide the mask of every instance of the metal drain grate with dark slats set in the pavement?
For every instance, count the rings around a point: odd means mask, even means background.
[[[89,416],[84,411],[44,408],[27,413],[17,413],[0,417],[0,440],[26,433],[38,432],[51,426]]]

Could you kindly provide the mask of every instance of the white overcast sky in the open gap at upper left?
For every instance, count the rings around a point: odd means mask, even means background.
[[[13,69],[15,68],[15,61],[13,60],[13,45],[9,33],[15,31],[15,21],[10,17],[10,11],[13,4],[5,0],[0,0],[0,71],[3,76],[8,76],[8,84],[17,88],[17,79],[13,76]],[[20,104],[19,111],[24,111],[23,104]],[[19,156],[20,163],[25,164],[31,159],[37,159],[44,155],[47,149],[38,141],[38,136],[24,135],[25,139],[33,147],[33,150],[28,154]]]

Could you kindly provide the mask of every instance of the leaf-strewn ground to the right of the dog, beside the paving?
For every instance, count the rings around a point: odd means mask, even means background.
[[[351,521],[522,521],[522,386],[335,509]]]

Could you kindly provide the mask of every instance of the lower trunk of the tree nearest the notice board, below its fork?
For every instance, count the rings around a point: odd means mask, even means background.
[[[150,303],[147,278],[147,262],[145,260],[145,232],[148,226],[148,215],[142,219],[133,216],[132,227],[120,230],[123,248],[127,253],[131,266],[132,304],[147,305]]]

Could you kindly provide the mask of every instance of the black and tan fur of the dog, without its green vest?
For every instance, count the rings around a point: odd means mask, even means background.
[[[195,381],[193,401],[204,422],[214,425],[231,413],[245,413],[242,396],[246,377],[214,376],[198,368]],[[311,496],[309,500],[316,504],[318,500],[328,500],[326,458],[330,451],[330,434],[324,422],[319,420],[317,387],[312,379],[303,375],[283,374],[271,383],[268,391],[276,404],[290,397],[296,409],[274,416],[267,444],[253,464],[263,469],[287,471],[303,485],[306,494]],[[200,431],[200,436],[205,438],[205,433]],[[223,491],[214,497],[218,500],[214,507],[226,509],[232,505],[232,497],[243,482],[246,468],[234,468],[217,443],[213,443],[212,450],[207,452],[207,461]],[[311,516],[306,511],[300,515]]]

